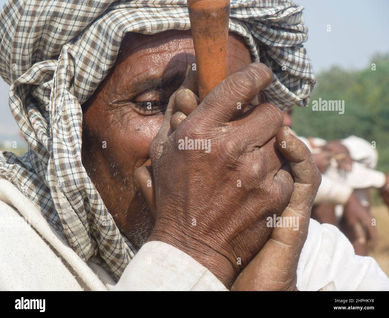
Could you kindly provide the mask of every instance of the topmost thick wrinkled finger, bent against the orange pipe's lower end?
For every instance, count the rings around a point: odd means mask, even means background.
[[[251,63],[220,82],[193,113],[198,119],[206,117],[214,122],[230,122],[272,80],[273,73],[265,64]]]

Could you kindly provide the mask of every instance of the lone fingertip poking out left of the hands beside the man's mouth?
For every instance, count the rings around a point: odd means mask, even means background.
[[[152,167],[150,159],[135,170],[134,178],[140,188],[140,191],[142,191],[146,199],[146,204],[149,208],[149,211],[155,219],[157,207],[155,200],[154,179],[152,176]]]

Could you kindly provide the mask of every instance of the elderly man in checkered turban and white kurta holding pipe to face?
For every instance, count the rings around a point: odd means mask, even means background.
[[[231,1],[230,75],[198,105],[186,1],[7,3],[0,72],[29,151],[0,156],[0,287],[389,288],[335,227],[309,221],[319,174],[263,104],[307,103],[301,11]],[[149,158],[154,214],[134,178]]]

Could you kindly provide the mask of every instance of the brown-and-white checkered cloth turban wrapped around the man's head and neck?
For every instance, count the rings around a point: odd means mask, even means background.
[[[315,83],[303,42],[303,7],[231,0],[230,30],[273,71],[269,101],[305,106]],[[190,29],[186,0],[10,0],[0,14],[0,74],[28,142],[0,153],[0,174],[35,202],[87,261],[119,278],[135,248],[121,235],[81,163],[81,104],[115,63],[126,32]]]

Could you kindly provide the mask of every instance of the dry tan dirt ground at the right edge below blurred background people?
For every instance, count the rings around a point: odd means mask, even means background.
[[[373,207],[371,210],[377,220],[378,245],[369,253],[387,276],[389,276],[389,210],[385,206]]]

